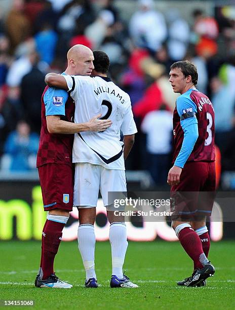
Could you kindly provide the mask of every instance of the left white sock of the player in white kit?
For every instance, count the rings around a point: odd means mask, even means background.
[[[79,251],[83,259],[87,280],[90,278],[96,279],[94,226],[91,224],[79,225],[79,229],[77,229],[77,242],[79,243]]]

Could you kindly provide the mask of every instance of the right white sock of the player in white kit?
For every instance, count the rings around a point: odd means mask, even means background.
[[[110,225],[109,241],[112,252],[112,275],[123,278],[123,264],[127,252],[127,227],[125,223],[115,222]]]

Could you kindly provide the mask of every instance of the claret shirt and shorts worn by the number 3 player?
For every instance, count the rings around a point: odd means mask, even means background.
[[[181,220],[186,220],[187,217],[189,220],[191,216],[200,218],[211,215],[216,184],[214,120],[211,101],[197,89],[189,89],[177,98],[173,114],[173,164],[183,167],[183,170],[180,182],[171,186],[172,219],[180,216],[183,217]],[[184,149],[182,144],[185,135],[188,134],[190,138],[189,125],[198,126],[198,139],[184,163],[184,153],[187,152],[189,145],[187,144]],[[177,192],[185,192],[183,194],[183,197],[187,197],[185,204],[174,199],[175,195],[178,197]]]

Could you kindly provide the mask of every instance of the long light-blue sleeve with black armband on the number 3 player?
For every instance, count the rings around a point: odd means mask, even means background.
[[[191,90],[179,96],[176,100],[177,112],[180,117],[180,125],[184,132],[184,138],[174,166],[181,168],[184,167],[199,136],[198,120],[195,115],[197,105],[191,100],[190,93]]]

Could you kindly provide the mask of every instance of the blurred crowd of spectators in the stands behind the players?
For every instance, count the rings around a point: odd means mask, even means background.
[[[4,14],[0,3],[2,170],[35,169],[44,77],[63,72],[75,44],[106,52],[111,79],[131,97],[138,134],[127,169],[149,170],[155,184],[166,183],[177,98],[169,68],[189,59],[198,67],[197,88],[214,104],[222,172],[235,170],[234,7],[217,7],[212,16],[192,9],[186,20],[176,8],[162,13],[157,0],[130,1],[128,21],[118,0],[12,0]]]

